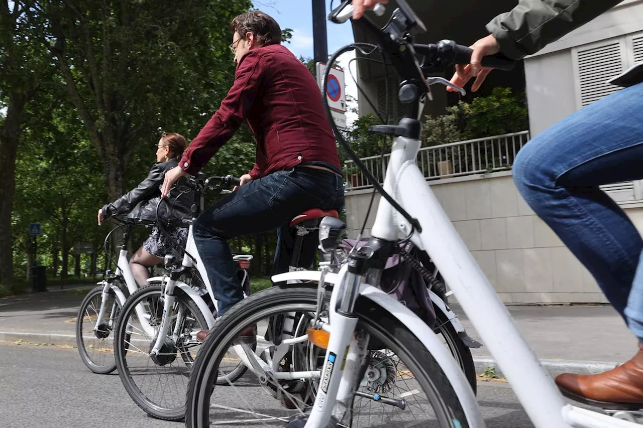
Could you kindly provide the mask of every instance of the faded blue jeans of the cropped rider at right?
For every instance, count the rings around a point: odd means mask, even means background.
[[[545,130],[513,166],[525,201],[590,271],[643,339],[643,241],[601,184],[643,179],[643,84],[611,94]],[[642,267],[643,271],[643,267]]]

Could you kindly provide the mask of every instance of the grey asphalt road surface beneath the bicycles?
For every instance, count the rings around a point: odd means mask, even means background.
[[[532,427],[507,384],[480,382],[489,428]],[[254,425],[257,426],[257,425]],[[75,348],[0,342],[0,427],[165,428],[129,398],[118,375],[95,375]]]

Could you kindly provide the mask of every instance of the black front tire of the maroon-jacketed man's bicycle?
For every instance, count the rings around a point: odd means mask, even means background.
[[[177,288],[177,290],[179,289]],[[147,296],[150,296],[152,294],[158,295],[160,292],[161,283],[155,281],[149,283],[149,285],[147,285],[146,287],[142,287],[141,289],[136,290],[136,292],[132,293],[127,301],[125,301],[120,316],[118,317],[116,336],[114,338],[114,356],[116,357],[115,359],[116,368],[118,368],[118,375],[123,383],[123,386],[125,387],[125,391],[127,391],[127,394],[132,398],[132,400],[138,407],[143,409],[145,413],[152,416],[153,418],[161,420],[181,421],[185,417],[185,402],[183,402],[182,406],[169,408],[159,406],[159,404],[150,400],[150,398],[148,398],[145,393],[141,391],[134,379],[132,379],[127,360],[125,359],[127,350],[129,348],[129,346],[127,345],[127,340],[123,340],[123,338],[127,336],[128,323],[126,317],[129,318],[130,314],[136,314],[136,312],[134,312],[134,308],[136,307],[136,305],[138,305],[138,303],[140,303],[144,299],[149,298]],[[199,308],[190,298],[185,296],[183,292],[177,292],[175,297],[177,302],[179,302],[181,305],[185,305],[185,307],[190,310],[192,316],[195,317],[197,323],[199,324],[200,330],[208,328],[203,314],[201,314]],[[184,353],[181,353],[181,355],[185,361],[186,355]]]

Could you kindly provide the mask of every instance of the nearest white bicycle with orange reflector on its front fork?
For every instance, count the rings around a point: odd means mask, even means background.
[[[471,49],[448,40],[413,44],[411,32],[424,30],[424,25],[406,2],[397,0],[397,4],[385,28],[368,19],[356,25],[376,37],[379,49],[388,53],[402,76],[400,101],[409,105],[411,117],[420,118],[430,99],[430,86],[450,85],[443,78],[426,78],[424,72],[468,64]],[[352,6],[345,0],[330,19],[345,22],[351,15]],[[364,48],[362,53],[367,55],[367,47],[378,49],[356,43],[340,49],[330,61],[354,48]],[[483,65],[509,69],[512,62],[494,56],[485,57]],[[382,195],[373,237],[352,251],[338,272],[327,264],[320,271],[275,276],[274,281],[298,284],[260,292],[222,317],[195,362],[186,425],[484,427],[466,377],[432,328],[377,287],[386,260],[401,251],[402,239],[426,251],[435,262],[536,427],[637,427],[631,413],[608,411],[606,415],[565,402],[419,170],[419,120],[403,118],[396,126],[379,125],[372,130],[394,137],[383,186],[348,150]],[[322,251],[334,251],[342,226],[322,221]],[[302,285],[305,281],[316,287]],[[280,330],[268,326],[267,346],[259,355],[233,341],[248,325],[293,313],[296,316]],[[230,348],[250,368],[241,379],[244,388],[214,386]],[[267,400],[259,398],[262,392],[268,393]],[[275,402],[280,406],[271,407]]]

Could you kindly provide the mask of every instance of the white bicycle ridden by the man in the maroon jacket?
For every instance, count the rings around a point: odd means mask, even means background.
[[[195,246],[192,222],[203,212],[205,190],[215,195],[230,193],[228,188],[237,184],[239,179],[231,175],[204,179],[199,174],[176,187],[177,193],[195,193],[192,220],[186,221],[190,224],[186,248],[177,246],[184,254],[183,260],[179,262],[172,255],[165,256],[169,274],[149,278],[145,287],[134,290],[121,304],[114,327],[118,375],[132,400],[155,418],[183,419],[187,379],[201,346],[196,335],[215,324],[217,299]],[[163,203],[170,204],[171,209],[172,199],[159,201],[157,217]],[[163,232],[163,224],[159,220],[157,224]],[[129,265],[125,256],[122,249],[118,265],[127,281],[131,274],[127,273]],[[244,297],[251,294],[249,265],[252,258],[248,254],[233,256]],[[129,281],[127,283],[129,287]],[[119,300],[125,297],[118,287],[109,287]],[[239,365],[217,382],[233,382],[245,371],[246,367]]]

